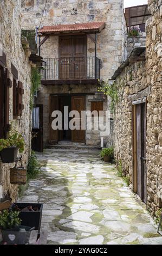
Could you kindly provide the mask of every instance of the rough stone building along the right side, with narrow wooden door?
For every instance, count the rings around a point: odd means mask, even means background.
[[[146,47],[136,46],[115,71],[115,158],[154,216],[162,207],[162,2],[148,0]]]

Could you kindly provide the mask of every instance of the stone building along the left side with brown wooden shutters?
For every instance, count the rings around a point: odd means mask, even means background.
[[[8,136],[9,130],[21,133],[25,141],[22,154],[23,165],[27,166],[30,154],[31,118],[30,118],[30,72],[31,64],[28,53],[24,52],[21,43],[21,1],[2,0],[0,3],[0,138]],[[17,101],[14,93],[21,86],[22,102]],[[17,93],[16,93],[17,95]],[[16,106],[19,104],[19,108]],[[10,184],[10,168],[13,163],[0,162],[0,198],[7,195],[17,198],[17,185]]]

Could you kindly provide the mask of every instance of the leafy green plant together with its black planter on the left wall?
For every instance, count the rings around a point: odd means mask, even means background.
[[[20,153],[23,153],[24,139],[18,132],[9,133],[9,137],[7,139],[0,139],[0,154],[2,162],[15,162],[18,149]]]

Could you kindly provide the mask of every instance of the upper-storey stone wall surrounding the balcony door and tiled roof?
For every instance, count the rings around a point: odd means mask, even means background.
[[[105,29],[98,34],[97,57],[102,61],[101,78],[111,78],[124,58],[126,25],[123,2],[123,0],[83,0],[77,7],[77,14],[72,15],[73,8],[77,6],[77,0],[48,1],[41,25],[105,21]],[[46,0],[22,1],[24,29],[34,29],[40,25],[45,3]],[[58,57],[58,49],[58,37],[50,36],[41,47],[41,56],[43,58]],[[87,39],[87,56],[94,56],[94,43],[90,39]]]

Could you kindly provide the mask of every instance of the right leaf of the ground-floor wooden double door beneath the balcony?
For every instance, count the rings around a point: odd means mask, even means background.
[[[81,130],[81,111],[85,110],[85,96],[72,96],[72,111],[80,113],[80,130],[72,131],[72,142],[85,142],[85,130]]]

